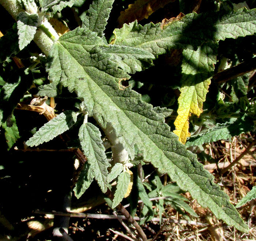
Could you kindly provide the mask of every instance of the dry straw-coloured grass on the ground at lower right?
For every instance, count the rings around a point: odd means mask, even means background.
[[[239,141],[238,141],[239,139]],[[219,141],[205,146],[205,152],[210,154],[212,158],[219,162],[233,162],[244,150],[244,146],[249,146],[253,139],[249,135],[242,135],[240,138],[233,138],[229,141]],[[238,162],[237,165],[228,170],[225,174],[221,174],[221,170],[215,169],[210,172],[215,176],[215,182],[218,183],[223,191],[230,197],[230,202],[236,205],[242,197],[248,193],[255,185],[255,146],[251,148],[251,154],[247,153]],[[248,162],[252,165],[248,166]],[[205,163],[208,164],[208,163]],[[248,233],[241,233],[233,227],[227,226],[225,223],[217,220],[208,208],[202,208],[196,200],[193,200],[189,193],[186,197],[191,200],[191,207],[199,215],[194,221],[208,223],[209,226],[195,226],[184,224],[167,224],[163,227],[162,234],[166,241],[176,240],[193,240],[193,241],[249,241],[256,240],[256,208],[255,200],[246,203],[238,208],[241,217],[249,226]],[[167,213],[170,216],[177,216],[176,211],[167,207]],[[179,218],[182,218],[181,216]]]

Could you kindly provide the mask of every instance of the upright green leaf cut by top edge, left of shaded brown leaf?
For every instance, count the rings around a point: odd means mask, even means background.
[[[99,37],[103,37],[113,2],[114,0],[93,1],[86,15],[80,16],[83,22],[82,27],[87,27],[92,32],[96,32]]]

